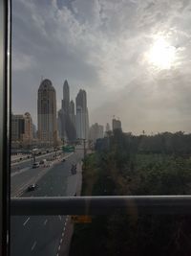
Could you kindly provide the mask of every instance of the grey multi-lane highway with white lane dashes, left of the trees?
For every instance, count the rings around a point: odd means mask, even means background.
[[[12,194],[17,191],[19,197],[74,196],[80,175],[72,175],[71,167],[72,164],[77,163],[79,170],[82,151],[76,150],[66,157],[68,157],[66,162],[57,160],[50,168],[29,168],[18,175],[12,175],[12,186],[16,187],[16,183],[20,182],[16,190],[11,190]],[[27,192],[26,188],[20,189],[24,186],[23,182],[30,184],[30,180],[36,176],[38,187],[34,191]],[[64,243],[68,221],[66,216],[11,217],[11,256],[58,256],[60,246]]]

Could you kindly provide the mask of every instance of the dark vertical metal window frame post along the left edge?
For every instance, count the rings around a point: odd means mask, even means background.
[[[0,255],[9,255],[11,0],[0,1]]]

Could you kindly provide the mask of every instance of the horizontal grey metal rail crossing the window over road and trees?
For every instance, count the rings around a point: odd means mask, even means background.
[[[191,196],[11,198],[11,215],[191,214]]]

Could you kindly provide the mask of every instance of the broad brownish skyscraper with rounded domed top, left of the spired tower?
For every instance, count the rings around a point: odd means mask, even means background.
[[[53,145],[57,140],[56,96],[50,80],[41,81],[38,88],[37,114],[39,142]]]

